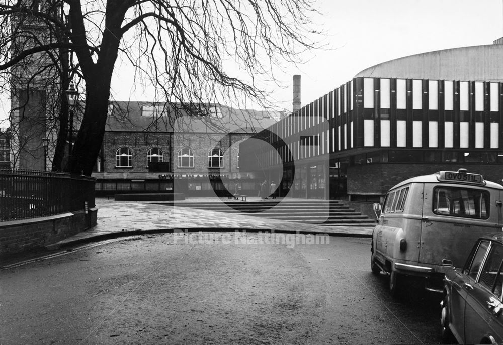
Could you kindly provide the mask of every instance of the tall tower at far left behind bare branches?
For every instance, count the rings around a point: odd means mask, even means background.
[[[57,15],[59,5],[38,0],[24,3],[29,11],[12,18],[12,56],[56,41],[54,29],[40,14]],[[51,169],[49,157],[57,138],[57,122],[50,111],[54,109],[51,95],[59,96],[56,54],[56,51],[42,51],[28,55],[11,68],[10,145],[14,169]]]

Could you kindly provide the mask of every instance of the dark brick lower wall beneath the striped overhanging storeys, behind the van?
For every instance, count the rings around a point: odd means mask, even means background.
[[[489,164],[365,164],[348,167],[348,194],[376,193],[384,195],[397,183],[414,176],[429,175],[437,171],[457,171],[482,174],[484,179],[501,184],[500,165]]]

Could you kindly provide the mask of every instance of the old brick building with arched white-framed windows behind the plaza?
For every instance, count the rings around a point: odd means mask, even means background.
[[[209,116],[177,113],[164,103],[111,102],[93,177],[97,193],[253,192],[263,178],[239,166],[239,144],[279,120],[279,112],[217,105]]]

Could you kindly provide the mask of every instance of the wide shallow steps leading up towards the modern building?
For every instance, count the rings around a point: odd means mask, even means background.
[[[319,225],[375,226],[376,224],[373,219],[336,200],[180,202],[175,205]]]

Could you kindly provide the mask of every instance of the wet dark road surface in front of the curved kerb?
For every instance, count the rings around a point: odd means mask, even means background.
[[[440,342],[439,296],[391,298],[370,239],[288,236],[134,237],[0,271],[0,344]]]

